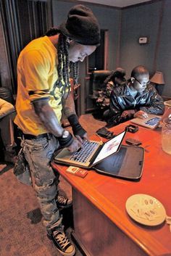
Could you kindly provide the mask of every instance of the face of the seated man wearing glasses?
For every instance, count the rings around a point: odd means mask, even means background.
[[[145,89],[147,84],[149,83],[149,74],[138,75],[135,80],[133,81],[133,88],[139,93],[142,93]]]

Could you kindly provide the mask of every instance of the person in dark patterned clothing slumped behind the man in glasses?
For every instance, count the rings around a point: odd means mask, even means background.
[[[125,75],[125,70],[121,67],[117,67],[117,69],[112,71],[111,75],[104,80],[104,86],[101,91],[99,91],[99,97],[96,99],[96,103],[103,111],[104,119],[109,115],[109,102],[112,89],[125,83]]]

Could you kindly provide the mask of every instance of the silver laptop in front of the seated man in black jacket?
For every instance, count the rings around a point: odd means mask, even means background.
[[[162,120],[164,120],[165,117],[169,117],[170,115],[171,108],[168,107],[167,110],[164,111],[163,115],[148,114],[148,117],[145,119],[133,118],[132,120],[130,120],[130,122],[154,130],[159,126],[160,122],[162,122]]]

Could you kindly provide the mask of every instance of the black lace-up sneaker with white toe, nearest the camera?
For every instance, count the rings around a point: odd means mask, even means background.
[[[54,241],[58,251],[62,255],[72,256],[75,255],[75,247],[67,238],[67,235],[64,233],[62,228],[54,228],[51,231],[51,239]]]

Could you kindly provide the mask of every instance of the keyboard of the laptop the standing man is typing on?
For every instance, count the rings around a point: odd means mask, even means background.
[[[81,149],[78,149],[77,152],[72,154],[70,160],[86,163],[94,150],[98,148],[99,143],[94,141],[84,141],[82,146]]]

